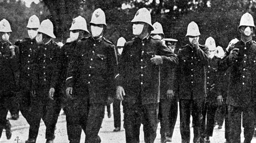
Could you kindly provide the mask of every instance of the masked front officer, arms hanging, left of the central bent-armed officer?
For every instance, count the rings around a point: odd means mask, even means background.
[[[115,92],[117,60],[115,46],[103,37],[107,24],[101,9],[93,12],[90,25],[92,36],[78,42],[69,63],[66,93],[74,99],[71,124],[84,130],[85,143],[100,143],[98,133],[105,105]],[[69,136],[70,143],[79,143],[80,136],[73,132]]]

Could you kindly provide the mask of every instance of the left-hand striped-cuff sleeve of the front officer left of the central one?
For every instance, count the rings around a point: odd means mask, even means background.
[[[81,61],[80,57],[80,48],[82,47],[82,42],[78,42],[77,46],[75,47],[75,51],[73,52],[73,56],[71,61],[68,64],[67,68],[67,78],[66,78],[66,87],[74,87],[75,85],[75,78],[78,74],[78,66],[79,61]]]

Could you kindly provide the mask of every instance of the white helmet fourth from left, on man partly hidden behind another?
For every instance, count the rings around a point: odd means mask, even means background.
[[[69,30],[83,30],[90,33],[87,29],[86,20],[82,16],[76,17]]]

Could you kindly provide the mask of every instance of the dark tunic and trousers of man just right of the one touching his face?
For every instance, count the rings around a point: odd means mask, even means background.
[[[221,58],[214,56],[209,60],[210,65],[206,67],[206,90],[207,97],[206,103],[203,110],[203,119],[202,119],[202,136],[212,136],[213,128],[215,124],[215,113],[217,110],[217,96],[221,95],[221,78],[222,72],[218,70],[218,66]]]

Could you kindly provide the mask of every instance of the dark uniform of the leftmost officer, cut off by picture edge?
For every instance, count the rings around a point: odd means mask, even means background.
[[[9,121],[6,119],[8,103],[19,92],[19,48],[15,45],[15,56],[11,55],[9,42],[0,42],[0,138]]]

